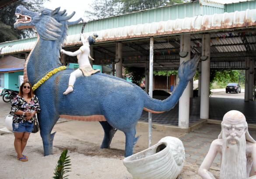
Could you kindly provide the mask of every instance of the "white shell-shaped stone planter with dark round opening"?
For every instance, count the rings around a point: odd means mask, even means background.
[[[175,137],[162,138],[156,145],[123,159],[134,179],[176,179],[185,161],[185,149]]]

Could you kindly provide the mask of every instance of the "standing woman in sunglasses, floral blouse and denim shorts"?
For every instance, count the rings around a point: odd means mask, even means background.
[[[41,111],[38,98],[33,95],[32,85],[29,81],[21,84],[19,94],[11,103],[10,115],[13,115],[12,128],[14,132],[14,148],[17,152],[17,160],[26,162],[28,157],[22,152],[33,130],[35,114]]]

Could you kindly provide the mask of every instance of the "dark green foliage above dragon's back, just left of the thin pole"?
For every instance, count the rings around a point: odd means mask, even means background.
[[[142,78],[145,77],[145,70],[144,68],[129,67],[124,68],[124,74],[130,75],[132,83],[140,86]]]

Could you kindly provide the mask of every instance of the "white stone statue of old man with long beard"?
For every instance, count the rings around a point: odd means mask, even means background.
[[[218,179],[208,171],[217,153],[221,155],[220,179],[246,179],[255,175],[256,142],[249,135],[248,124],[241,112],[233,110],[224,115],[221,133],[211,143],[198,170],[203,179]]]

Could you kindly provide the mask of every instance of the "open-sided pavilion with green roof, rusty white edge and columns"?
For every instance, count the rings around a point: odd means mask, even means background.
[[[72,12],[68,12],[71,14]],[[65,47],[76,51],[81,46],[82,24],[69,27]],[[196,0],[172,6],[141,10],[86,24],[84,34],[98,34],[91,46],[93,64],[116,65],[116,76],[122,67],[142,67],[149,91],[149,69],[177,70],[183,61],[200,55],[200,118],[209,118],[210,69],[245,70],[245,101],[253,99],[256,56],[256,1],[221,4]],[[26,58],[36,37],[0,44],[0,55]],[[75,57],[64,56],[64,63]],[[153,61],[150,67],[149,62]],[[0,70],[1,70],[0,64]],[[5,71],[8,73],[8,71]],[[0,71],[1,73],[1,71]],[[193,83],[193,81],[191,81]],[[191,82],[179,100],[179,128],[189,128]]]

